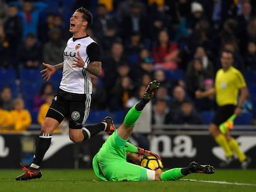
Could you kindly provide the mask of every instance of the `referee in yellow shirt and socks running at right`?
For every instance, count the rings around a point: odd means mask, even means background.
[[[247,86],[244,77],[239,70],[233,66],[233,52],[224,50],[221,52],[222,69],[218,70],[215,77],[215,88],[207,91],[196,91],[197,98],[204,98],[216,94],[216,102],[218,109],[215,113],[213,121],[210,123],[210,134],[215,138],[221,148],[223,148],[226,161],[221,162],[221,167],[226,167],[235,160],[236,153],[241,162],[242,169],[247,169],[251,162],[250,157],[246,157],[241,151],[237,141],[227,133],[221,133],[220,124],[226,122],[231,115],[239,115],[242,112],[242,105],[247,96]],[[237,96],[241,92],[240,99],[237,101]]]

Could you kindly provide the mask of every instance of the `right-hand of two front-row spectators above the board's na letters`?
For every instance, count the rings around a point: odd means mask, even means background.
[[[185,99],[181,103],[181,110],[174,114],[174,124],[201,125],[202,119],[200,114],[194,109],[193,102]]]

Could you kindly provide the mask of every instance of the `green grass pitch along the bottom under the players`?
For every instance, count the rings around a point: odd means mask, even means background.
[[[114,191],[114,192],[149,192],[149,191],[256,191],[256,170],[217,169],[215,174],[193,173],[182,180],[171,182],[102,182],[93,170],[46,169],[40,179],[15,181],[22,170],[0,169],[0,191]]]

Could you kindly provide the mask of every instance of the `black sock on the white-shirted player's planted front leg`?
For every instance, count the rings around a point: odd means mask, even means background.
[[[52,135],[40,133],[38,143],[36,144],[35,155],[33,157],[33,164],[40,166],[46,151],[49,149],[52,137]]]

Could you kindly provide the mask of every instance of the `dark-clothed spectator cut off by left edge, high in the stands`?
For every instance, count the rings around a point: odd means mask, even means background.
[[[11,57],[11,49],[9,46],[9,40],[6,38],[6,33],[4,32],[4,23],[0,19],[0,68],[9,68],[9,59]]]

